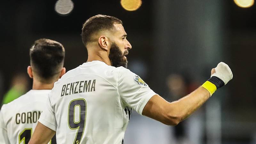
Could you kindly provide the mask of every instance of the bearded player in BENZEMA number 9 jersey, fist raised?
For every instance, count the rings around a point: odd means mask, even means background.
[[[164,124],[176,125],[199,108],[233,75],[225,63],[188,96],[169,103],[127,67],[132,48],[122,21],[96,15],[82,29],[88,60],[54,84],[30,144],[46,143],[56,132],[59,144],[124,143],[131,108]]]

